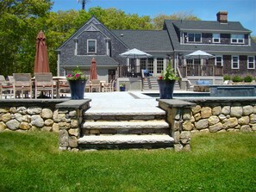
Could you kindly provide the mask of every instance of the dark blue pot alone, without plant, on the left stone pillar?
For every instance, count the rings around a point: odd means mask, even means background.
[[[68,81],[71,97],[73,100],[84,99],[84,90],[86,80],[70,80]]]

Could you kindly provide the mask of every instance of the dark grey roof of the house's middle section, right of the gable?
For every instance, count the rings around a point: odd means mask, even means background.
[[[130,49],[143,52],[172,52],[172,44],[166,30],[111,30]]]

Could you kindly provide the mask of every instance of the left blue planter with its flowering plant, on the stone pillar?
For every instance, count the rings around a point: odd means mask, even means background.
[[[76,69],[72,71],[71,74],[66,75],[68,81],[71,97],[72,99],[84,99],[84,90],[87,77],[84,76],[84,73],[77,66]]]

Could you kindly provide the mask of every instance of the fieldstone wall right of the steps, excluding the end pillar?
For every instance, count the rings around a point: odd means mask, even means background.
[[[192,133],[256,131],[256,99],[215,99],[190,102],[197,105],[191,109],[190,119],[184,120],[183,129],[186,131]]]

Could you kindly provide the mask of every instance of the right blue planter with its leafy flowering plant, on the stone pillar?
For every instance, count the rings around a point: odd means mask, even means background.
[[[174,84],[178,79],[177,73],[172,69],[172,65],[169,62],[166,70],[161,72],[158,79],[160,99],[172,99]]]

